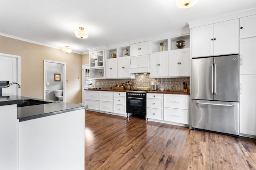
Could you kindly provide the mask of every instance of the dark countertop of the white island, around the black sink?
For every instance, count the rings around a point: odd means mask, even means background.
[[[14,95],[10,95],[10,98],[8,98],[8,101],[4,101],[4,100],[1,101],[1,98],[0,98],[0,106],[10,105],[10,103],[22,104],[23,100],[28,100],[28,99],[40,100],[40,101],[46,101],[46,102],[52,102],[52,103],[17,107],[17,119],[19,119],[19,121],[36,119],[40,117],[56,115],[56,114],[79,110],[79,109],[86,109],[88,107],[88,106],[82,106],[81,104],[72,104],[72,103],[58,102],[58,101],[52,101],[52,100],[42,100],[42,99],[29,98],[24,96],[14,96]]]

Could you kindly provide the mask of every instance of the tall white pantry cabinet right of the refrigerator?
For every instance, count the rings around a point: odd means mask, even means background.
[[[240,135],[256,137],[256,15],[240,18]]]

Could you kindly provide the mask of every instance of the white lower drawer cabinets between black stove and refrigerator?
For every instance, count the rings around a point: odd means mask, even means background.
[[[188,126],[190,124],[189,96],[182,94],[147,94],[149,121]]]

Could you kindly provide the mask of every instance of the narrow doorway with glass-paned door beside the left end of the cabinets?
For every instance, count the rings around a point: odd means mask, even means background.
[[[95,81],[90,79],[90,64],[82,65],[82,104],[85,103],[85,91],[84,89],[94,88]]]

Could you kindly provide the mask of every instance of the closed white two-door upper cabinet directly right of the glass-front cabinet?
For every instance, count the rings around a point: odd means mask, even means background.
[[[117,78],[117,58],[106,60],[105,72],[106,78]]]

